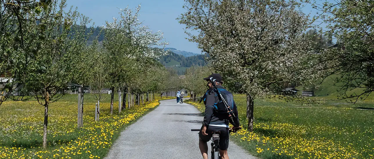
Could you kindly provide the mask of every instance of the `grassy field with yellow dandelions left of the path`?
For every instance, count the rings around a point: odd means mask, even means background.
[[[35,101],[7,101],[0,106],[1,159],[88,159],[103,158],[120,131],[150,109],[156,100],[135,105],[118,114],[118,97],[110,115],[110,98],[100,104],[100,121],[94,121],[95,100],[85,96],[83,127],[77,129],[77,95],[67,95],[50,104],[48,147],[42,149],[44,107]],[[109,96],[108,96],[109,97]]]

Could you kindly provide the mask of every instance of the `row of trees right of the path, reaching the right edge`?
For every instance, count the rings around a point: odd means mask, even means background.
[[[313,18],[294,0],[185,1],[187,12],[178,20],[199,32],[187,33],[190,41],[198,43],[230,88],[246,92],[249,131],[254,99],[278,94],[286,83],[313,85],[339,74],[336,85],[345,90],[340,98],[353,102],[374,90],[373,1],[313,3],[320,11]],[[320,20],[326,28],[314,25]],[[361,93],[347,95],[356,88]]]

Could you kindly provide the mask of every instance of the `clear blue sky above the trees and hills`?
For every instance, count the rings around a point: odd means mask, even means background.
[[[183,0],[67,0],[68,6],[78,7],[78,11],[88,16],[95,22],[95,26],[105,24],[105,20],[111,21],[118,18],[119,9],[129,6],[134,9],[141,4],[139,19],[144,21],[153,31],[162,31],[169,45],[166,47],[178,50],[200,53],[196,43],[189,42],[184,33],[184,25],[178,23],[179,15],[185,12],[182,8]],[[304,13],[311,13],[310,6],[304,7]],[[312,12],[314,15],[315,12]]]

